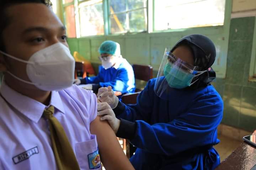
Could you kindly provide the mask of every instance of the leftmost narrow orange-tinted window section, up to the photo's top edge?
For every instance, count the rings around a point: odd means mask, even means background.
[[[75,28],[75,8],[73,0],[63,0],[64,3],[64,21],[69,38],[76,38]],[[65,4],[68,3],[68,4]]]

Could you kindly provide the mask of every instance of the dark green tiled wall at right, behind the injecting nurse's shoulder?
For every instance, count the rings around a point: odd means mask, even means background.
[[[255,17],[231,19],[227,72],[213,85],[223,98],[223,124],[256,129],[256,83],[249,80]],[[255,40],[256,41],[256,40]]]

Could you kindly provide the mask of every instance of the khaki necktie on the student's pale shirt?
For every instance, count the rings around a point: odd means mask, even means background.
[[[69,143],[68,137],[66,136],[62,125],[53,116],[53,113],[54,107],[50,106],[44,110],[43,115],[48,120],[52,148],[58,169],[79,170],[79,164]]]

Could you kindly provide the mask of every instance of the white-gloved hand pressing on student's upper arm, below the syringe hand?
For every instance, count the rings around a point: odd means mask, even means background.
[[[111,109],[110,105],[106,102],[98,103],[97,111],[97,115],[101,116],[100,120],[107,120],[108,124],[110,124],[111,128],[116,134],[121,121],[116,118],[116,115],[114,114],[114,111]]]

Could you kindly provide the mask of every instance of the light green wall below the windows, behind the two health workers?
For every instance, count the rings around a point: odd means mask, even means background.
[[[125,35],[91,36],[68,39],[71,53],[78,51],[92,63],[98,60],[98,47],[105,40],[113,40],[120,44],[121,53],[128,62],[134,64],[150,64],[158,70],[165,48],[171,48],[183,36],[188,34],[204,34],[212,39],[217,49],[214,70],[220,78],[225,77],[228,54],[229,22],[225,26],[192,28],[164,33],[137,33]]]

